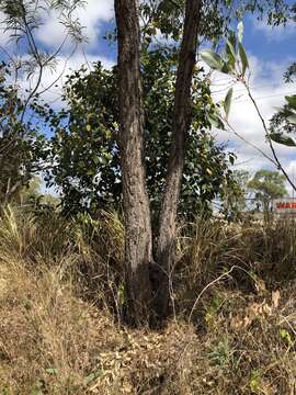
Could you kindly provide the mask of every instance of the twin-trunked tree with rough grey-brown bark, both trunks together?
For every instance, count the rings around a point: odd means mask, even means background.
[[[184,35],[180,50],[177,77],[172,149],[169,159],[167,185],[160,215],[157,264],[158,314],[168,311],[169,264],[174,255],[174,230],[178,199],[184,166],[184,149],[190,126],[190,95],[197,48],[201,2],[187,0]],[[147,317],[145,311],[151,301],[149,266],[152,259],[151,215],[146,189],[144,161],[144,108],[140,80],[140,29],[137,1],[115,0],[118,32],[118,100],[123,196],[125,214],[125,261],[128,272],[133,316]]]

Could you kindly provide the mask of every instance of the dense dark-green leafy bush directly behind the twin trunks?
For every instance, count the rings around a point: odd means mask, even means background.
[[[146,167],[148,193],[152,208],[158,210],[164,184],[166,163],[170,153],[174,61],[171,52],[156,50],[143,58],[146,123]],[[69,110],[52,117],[53,174],[64,193],[67,212],[95,210],[121,203],[121,170],[117,146],[118,111],[116,68],[86,69],[68,78],[64,100]],[[187,139],[187,154],[181,194],[181,211],[196,213],[223,194],[225,183],[234,184],[229,160],[223,146],[207,132],[212,99],[203,70],[196,70],[192,92],[193,126]]]

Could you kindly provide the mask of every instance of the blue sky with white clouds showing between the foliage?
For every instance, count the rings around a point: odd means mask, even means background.
[[[55,108],[60,106],[60,87],[69,70],[75,70],[86,64],[101,60],[106,68],[111,68],[116,61],[116,44],[109,44],[103,37],[106,31],[114,25],[113,0],[87,0],[84,9],[80,9],[78,16],[86,26],[84,34],[88,43],[72,54],[72,44],[67,42],[58,57],[56,71],[47,71],[43,79],[43,86],[47,87],[56,76],[64,77],[58,87],[53,87],[45,93],[45,100]],[[0,14],[0,20],[2,15]],[[47,50],[55,50],[65,36],[64,26],[57,22],[57,15],[45,14],[44,25],[36,31],[38,44]],[[250,86],[253,97],[257,99],[260,111],[266,121],[276,111],[275,108],[284,103],[286,94],[296,93],[294,84],[286,84],[283,74],[287,66],[296,60],[296,29],[295,23],[287,26],[270,27],[264,22],[253,16],[244,19],[244,47],[250,60],[251,79]],[[10,50],[8,34],[0,34],[1,47]],[[71,55],[71,56],[70,56]],[[21,81],[23,88],[27,88],[29,81]],[[226,75],[215,72],[213,75],[213,98],[221,100],[230,87]],[[255,147],[270,155],[270,148],[265,142],[262,124],[255,113],[253,104],[248,99],[242,86],[234,87],[234,100],[229,122],[234,129]],[[218,142],[227,142],[228,148],[237,154],[237,169],[248,169],[254,173],[261,168],[273,166],[260,155],[251,145],[240,140],[234,134],[214,131]],[[291,177],[296,177],[296,148],[275,144],[276,153],[283,166]]]

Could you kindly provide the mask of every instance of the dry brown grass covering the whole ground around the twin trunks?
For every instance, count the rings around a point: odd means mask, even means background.
[[[121,325],[117,215],[76,223],[52,215],[1,215],[0,393],[296,394],[292,224],[200,219],[183,229],[175,319],[151,331]],[[198,329],[187,323],[203,286],[234,264],[243,270],[198,300]]]

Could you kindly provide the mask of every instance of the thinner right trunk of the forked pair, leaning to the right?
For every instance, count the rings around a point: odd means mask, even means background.
[[[156,311],[168,315],[170,271],[175,260],[175,221],[183,176],[185,144],[191,125],[191,86],[197,53],[202,0],[186,0],[183,38],[175,83],[171,153],[167,170],[157,247]]]

